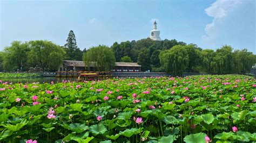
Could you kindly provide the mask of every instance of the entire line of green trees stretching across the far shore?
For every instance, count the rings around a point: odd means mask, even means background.
[[[14,41],[0,53],[0,59],[5,71],[28,71],[30,67],[56,71],[62,60],[83,60],[86,67],[95,66],[98,71],[111,70],[115,61],[137,62],[142,65],[142,71],[172,75],[182,75],[183,72],[250,73],[256,63],[256,55],[247,49],[233,50],[231,46],[224,45],[214,51],[175,39],[114,42],[111,47],[99,45],[81,51],[73,31],[69,32],[64,46],[43,40]]]

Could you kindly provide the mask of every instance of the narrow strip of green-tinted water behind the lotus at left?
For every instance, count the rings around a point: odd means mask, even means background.
[[[26,78],[0,78],[3,82],[12,82],[12,83],[33,83],[33,82],[39,82],[39,83],[50,83],[53,81],[56,82],[62,82],[62,80],[66,81],[77,81],[77,77],[26,77]]]

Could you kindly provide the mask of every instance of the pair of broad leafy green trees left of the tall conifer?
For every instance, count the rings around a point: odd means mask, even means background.
[[[28,71],[39,67],[42,71],[57,70],[64,58],[64,50],[51,41],[14,41],[0,54],[5,71]]]

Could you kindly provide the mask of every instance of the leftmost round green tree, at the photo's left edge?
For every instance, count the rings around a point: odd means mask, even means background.
[[[14,41],[10,47],[5,47],[2,60],[3,67],[6,71],[25,70],[28,68],[27,52],[29,51],[28,43],[21,41]]]

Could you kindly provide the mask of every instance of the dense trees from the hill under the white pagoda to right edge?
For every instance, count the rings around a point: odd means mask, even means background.
[[[251,67],[256,62],[256,55],[248,52],[247,49],[233,51],[231,46],[225,45],[213,51],[202,49],[196,44],[187,45],[175,39],[163,41],[142,39],[120,42],[120,44],[115,42],[111,48],[117,61],[123,56],[130,56],[133,62],[142,65],[143,71],[152,69],[173,75],[181,75],[183,72],[250,73]]]

